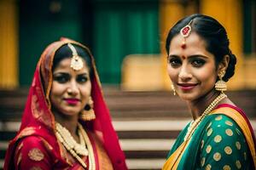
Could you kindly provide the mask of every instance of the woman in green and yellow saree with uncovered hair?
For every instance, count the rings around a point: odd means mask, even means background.
[[[224,94],[234,75],[224,26],[193,14],[179,20],[166,39],[172,90],[185,100],[193,120],[178,135],[163,170],[255,169],[253,128]]]

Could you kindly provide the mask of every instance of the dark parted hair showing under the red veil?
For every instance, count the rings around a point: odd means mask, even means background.
[[[77,53],[80,57],[85,60],[85,65],[88,66],[90,71],[90,77],[92,76],[92,68],[91,68],[91,59],[90,54],[88,54],[84,48],[79,47],[76,44],[72,44],[76,49]],[[55,70],[55,67],[61,62],[62,59],[71,58],[73,56],[71,49],[67,46],[67,44],[63,45],[61,48],[57,49],[55,52],[55,57],[53,60],[52,71]]]

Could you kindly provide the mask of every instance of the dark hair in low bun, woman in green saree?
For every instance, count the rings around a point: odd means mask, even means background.
[[[177,23],[171,28],[166,38],[166,51],[169,54],[172,38],[179,31],[189,24],[191,32],[195,32],[207,43],[207,51],[215,56],[215,63],[218,65],[224,59],[224,55],[230,56],[230,62],[223,80],[227,82],[235,73],[236,56],[230,50],[230,41],[227,32],[218,20],[203,14],[192,14]]]

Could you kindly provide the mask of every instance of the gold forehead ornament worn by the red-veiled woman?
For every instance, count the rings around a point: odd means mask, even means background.
[[[74,71],[79,71],[84,66],[83,60],[77,53],[76,48],[74,48],[71,43],[67,43],[67,46],[71,49],[72,55],[73,55],[71,59],[70,67],[73,68]]]

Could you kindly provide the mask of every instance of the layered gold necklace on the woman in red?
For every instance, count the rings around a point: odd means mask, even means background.
[[[66,150],[77,160],[79,163],[84,167],[84,169],[87,168],[85,162],[80,156],[88,156],[89,159],[89,170],[95,170],[95,157],[93,154],[93,148],[90,143],[90,139],[85,132],[82,125],[78,124],[78,134],[79,134],[79,140],[80,144],[76,142],[75,139],[73,139],[73,136],[71,133],[67,130],[66,127],[62,127],[60,123],[55,122],[56,127],[56,137],[60,140],[61,144],[64,145]],[[86,147],[87,146],[87,147]]]

